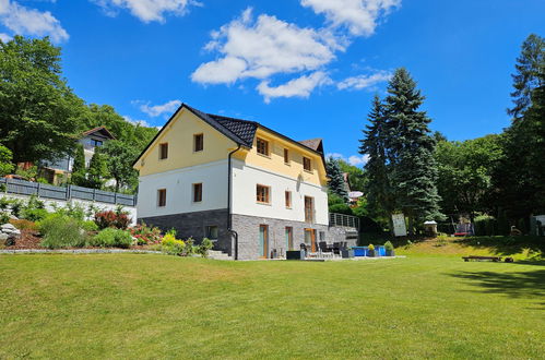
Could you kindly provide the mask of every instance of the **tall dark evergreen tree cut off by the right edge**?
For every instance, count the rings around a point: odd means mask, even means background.
[[[545,39],[530,35],[513,74],[512,124],[503,134],[505,157],[494,176],[496,203],[511,223],[545,212]]]

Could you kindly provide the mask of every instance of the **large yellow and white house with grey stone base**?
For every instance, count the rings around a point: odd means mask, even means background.
[[[236,259],[332,242],[322,141],[181,105],[134,163],[138,216]],[[336,240],[335,240],[336,241]]]

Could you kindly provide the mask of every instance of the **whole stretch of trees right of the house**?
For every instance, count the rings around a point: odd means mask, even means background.
[[[530,35],[512,75],[511,124],[500,134],[449,141],[433,133],[420,110],[425,97],[405,69],[398,69],[387,96],[375,96],[359,153],[362,172],[328,159],[330,208],[340,209],[345,193],[341,168],[358,178],[364,197],[349,209],[391,228],[403,213],[417,233],[425,220],[467,217],[493,219],[497,233],[510,226],[528,231],[531,215],[545,214],[545,39]],[[336,206],[336,207],[335,207]],[[346,205],[344,205],[346,208]],[[457,219],[458,220],[458,219]]]

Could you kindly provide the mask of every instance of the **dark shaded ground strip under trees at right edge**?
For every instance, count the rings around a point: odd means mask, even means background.
[[[508,256],[529,250],[531,254],[545,253],[545,239],[532,236],[498,236],[498,237],[471,237],[455,240],[462,247],[486,248],[494,254]]]

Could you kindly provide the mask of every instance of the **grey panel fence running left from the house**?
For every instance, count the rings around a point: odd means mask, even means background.
[[[36,195],[45,199],[70,200],[81,199],[108,204],[137,206],[137,195],[120,194],[117,192],[102,191],[75,185],[54,187],[47,183],[31,182],[19,179],[0,178],[0,188],[4,192],[19,195]]]

